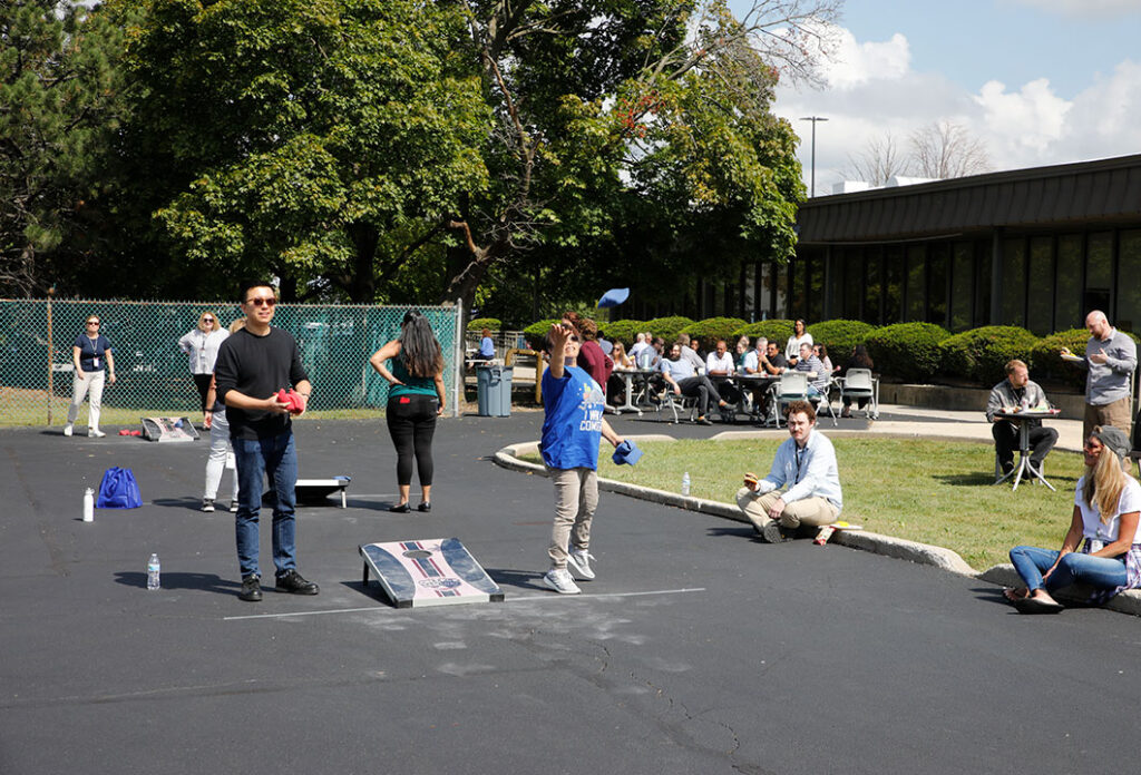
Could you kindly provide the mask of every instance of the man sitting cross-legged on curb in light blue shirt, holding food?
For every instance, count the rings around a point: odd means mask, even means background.
[[[816,410],[808,401],[788,405],[788,434],[769,475],[758,481],[745,474],[745,487],[737,491],[737,506],[769,544],[788,540],[802,524],[832,524],[843,507],[836,450],[816,431]]]

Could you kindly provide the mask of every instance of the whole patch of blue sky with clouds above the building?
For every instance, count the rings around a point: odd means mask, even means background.
[[[811,0],[807,0],[810,2]],[[730,0],[738,16],[750,0]],[[783,82],[774,111],[802,138],[817,194],[890,132],[954,122],[994,170],[1141,153],[1141,0],[848,0],[822,89]]]

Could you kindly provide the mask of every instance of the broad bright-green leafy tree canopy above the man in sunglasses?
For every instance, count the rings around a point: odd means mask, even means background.
[[[140,15],[128,63],[140,153],[167,173],[154,214],[199,266],[371,302],[486,186],[453,3],[118,6]]]

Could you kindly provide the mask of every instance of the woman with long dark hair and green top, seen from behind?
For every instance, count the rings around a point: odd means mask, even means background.
[[[391,370],[385,365],[391,361]],[[420,476],[421,500],[416,508],[431,511],[431,439],[436,417],[444,414],[444,353],[431,325],[421,312],[410,310],[400,323],[400,336],[372,354],[369,362],[390,385],[388,390],[388,433],[396,447],[396,484],[400,501],[388,511],[404,514],[410,509],[412,460]]]

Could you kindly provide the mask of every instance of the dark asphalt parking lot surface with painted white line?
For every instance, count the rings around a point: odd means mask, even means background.
[[[970,578],[769,546],[739,523],[609,493],[598,579],[578,597],[547,590],[550,483],[488,460],[536,438],[541,417],[442,421],[428,515],[387,511],[382,423],[299,423],[301,475],[351,475],[349,508],[299,509],[299,569],[321,594],[267,588],[260,604],[236,597],[232,516],[197,511],[204,442],[0,431],[0,772],[1135,766],[1133,617],[1019,617]],[[135,471],[144,506],[83,523],[83,488],[112,465]],[[504,602],[397,610],[362,585],[359,544],[451,536]],[[261,544],[268,576],[268,530]]]

